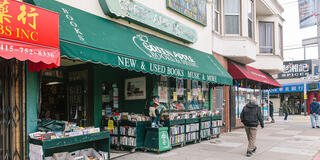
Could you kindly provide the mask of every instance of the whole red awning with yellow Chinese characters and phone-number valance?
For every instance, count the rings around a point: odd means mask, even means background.
[[[1,0],[0,56],[60,66],[59,14],[14,0]]]

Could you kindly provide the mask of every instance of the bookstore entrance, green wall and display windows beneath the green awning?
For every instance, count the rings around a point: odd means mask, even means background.
[[[148,116],[152,97],[169,113],[210,110],[208,82],[156,76],[62,59],[62,67],[40,72],[39,119],[100,126],[120,113]],[[119,117],[118,117],[119,118]]]

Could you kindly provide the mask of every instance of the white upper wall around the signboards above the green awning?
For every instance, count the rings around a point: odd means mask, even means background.
[[[211,2],[210,3],[207,2],[207,26],[203,26],[203,25],[198,24],[197,22],[189,20],[187,17],[182,16],[177,12],[174,12],[174,11],[167,9],[166,8],[166,0],[135,0],[138,3],[145,5],[146,7],[152,8],[156,12],[160,12],[163,15],[166,15],[172,19],[179,21],[180,23],[182,23],[190,28],[193,28],[197,32],[197,36],[198,36],[197,42],[194,44],[184,44],[181,41],[178,41],[178,40],[171,38],[169,36],[160,34],[156,31],[141,27],[139,25],[135,25],[133,23],[129,24],[128,21],[125,21],[122,19],[112,19],[112,18],[106,16],[103,13],[98,0],[57,0],[57,1],[62,2],[67,5],[70,5],[70,6],[73,6],[78,9],[84,10],[86,12],[95,14],[97,16],[101,16],[101,17],[107,18],[109,20],[121,23],[123,25],[130,26],[130,27],[135,28],[137,30],[141,30],[141,31],[156,35],[158,37],[161,37],[161,38],[164,38],[164,39],[167,39],[170,41],[174,41],[176,43],[186,45],[188,47],[192,47],[192,48],[201,50],[201,51],[209,53],[209,54],[211,54],[211,52],[212,52],[212,49],[211,49],[212,38],[211,38],[211,35],[209,34],[209,33],[211,33],[211,30],[212,30]]]

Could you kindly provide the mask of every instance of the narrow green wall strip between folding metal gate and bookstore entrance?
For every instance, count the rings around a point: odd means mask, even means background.
[[[39,72],[26,71],[26,136],[37,131],[37,106],[39,99]],[[26,156],[29,154],[29,143],[26,144]]]

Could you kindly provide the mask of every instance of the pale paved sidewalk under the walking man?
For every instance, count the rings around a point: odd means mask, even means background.
[[[318,160],[320,150],[320,129],[312,129],[309,116],[275,117],[276,123],[259,127],[257,152],[246,157],[247,138],[243,128],[225,133],[219,139],[174,148],[169,152],[156,154],[137,151],[116,160]]]

